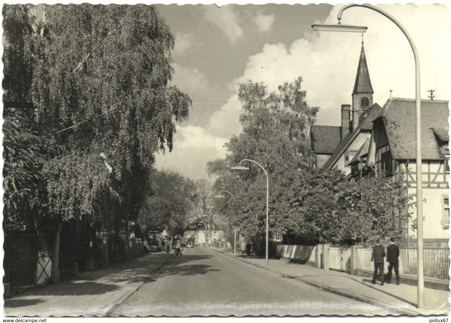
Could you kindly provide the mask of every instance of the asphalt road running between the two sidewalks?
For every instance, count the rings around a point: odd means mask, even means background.
[[[195,247],[167,263],[111,316],[386,315],[386,309]]]

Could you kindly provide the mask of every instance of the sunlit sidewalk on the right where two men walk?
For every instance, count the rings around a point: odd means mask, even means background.
[[[308,265],[290,263],[287,258],[266,259],[260,256],[233,254],[233,250],[216,249],[254,266],[277,272],[282,276],[299,279],[325,291],[392,309],[393,314],[406,315],[447,315],[449,314],[449,291],[424,289],[424,309],[417,309],[417,286],[385,284],[380,281],[371,284],[371,278],[350,275],[335,270],[322,270]],[[387,269],[386,269],[387,270]],[[393,281],[396,281],[393,277]]]

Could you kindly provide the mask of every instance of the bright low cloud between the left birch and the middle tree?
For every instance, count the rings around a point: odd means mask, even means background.
[[[156,168],[172,169],[193,180],[208,178],[207,162],[226,156],[223,146],[228,139],[213,136],[193,125],[176,126],[176,131],[173,152],[156,155]]]

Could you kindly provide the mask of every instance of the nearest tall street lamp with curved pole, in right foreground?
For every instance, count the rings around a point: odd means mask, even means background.
[[[410,37],[409,32],[404,28],[404,26],[391,14],[386,11],[377,8],[374,5],[363,4],[363,5],[345,5],[340,11],[338,11],[337,19],[338,24],[336,25],[312,25],[313,30],[328,30],[328,31],[344,31],[344,32],[366,32],[367,27],[358,27],[351,25],[341,24],[341,14],[348,8],[351,7],[364,7],[372,9],[379,14],[384,15],[390,19],[393,23],[401,29],[405,37],[409,41],[410,47],[414,53],[415,60],[415,105],[416,105],[416,185],[417,185],[417,258],[418,258],[418,308],[422,309],[424,307],[424,272],[423,272],[423,179],[422,179],[422,160],[421,160],[421,97],[420,97],[420,60],[418,56],[417,48],[414,44],[412,37]]]

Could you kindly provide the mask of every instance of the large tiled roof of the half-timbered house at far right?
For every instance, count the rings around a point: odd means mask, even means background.
[[[424,159],[445,158],[435,136],[449,140],[448,103],[421,100],[421,157]],[[389,98],[376,118],[382,119],[385,125],[395,159],[416,158],[415,108],[414,99]]]

